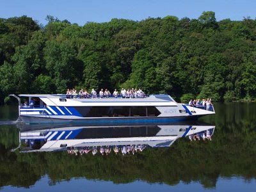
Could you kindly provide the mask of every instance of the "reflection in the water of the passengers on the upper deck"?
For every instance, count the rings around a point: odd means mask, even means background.
[[[142,152],[144,149],[146,148],[145,145],[124,145],[124,146],[115,146],[113,148],[109,147],[109,146],[105,146],[105,147],[83,147],[83,148],[68,148],[67,152],[68,154],[75,154],[76,156],[78,154],[83,155],[83,154],[88,154],[89,152],[92,152],[93,156],[95,156],[95,154],[97,154],[98,149],[99,152],[102,156],[104,156],[106,154],[106,156],[108,156],[108,154],[111,153],[111,151],[113,150],[113,152],[115,152],[115,154],[117,155],[119,152],[122,153],[122,155],[124,156],[125,154],[135,154],[136,152]]]

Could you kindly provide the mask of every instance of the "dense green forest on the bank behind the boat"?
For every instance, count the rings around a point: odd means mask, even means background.
[[[176,100],[255,100],[256,19],[166,16],[84,26],[0,19],[0,101],[10,93],[141,88]]]

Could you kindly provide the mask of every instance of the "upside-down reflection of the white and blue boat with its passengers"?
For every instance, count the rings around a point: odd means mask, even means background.
[[[147,147],[170,147],[178,138],[211,140],[214,125],[192,123],[60,127],[25,125],[20,129],[20,152],[67,150],[74,155],[108,155],[111,152],[125,155],[141,152]]]

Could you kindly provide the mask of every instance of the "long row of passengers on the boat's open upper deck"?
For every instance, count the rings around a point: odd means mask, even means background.
[[[96,90],[92,89],[91,93],[88,93],[87,90],[83,90],[81,89],[78,93],[77,91],[73,88],[73,89],[67,89],[67,93],[66,96],[68,99],[71,98],[90,98],[92,97],[93,99],[95,98],[109,98],[109,97],[122,97],[122,98],[138,98],[138,97],[146,97],[145,93],[141,90],[141,89],[127,89],[125,90],[124,88],[122,88],[122,90],[120,91],[120,93],[118,93],[118,91],[115,89],[115,91],[113,92],[113,94],[111,95],[111,92],[109,92],[108,89],[105,89],[105,91],[103,89],[100,90],[99,95],[96,92]]]

